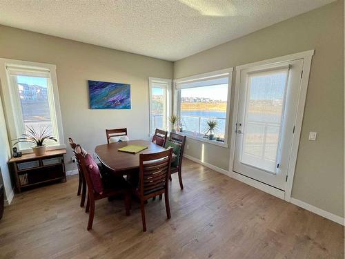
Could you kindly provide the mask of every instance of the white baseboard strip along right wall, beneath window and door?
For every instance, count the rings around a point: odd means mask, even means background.
[[[244,182],[245,184],[253,186],[253,187],[255,187],[261,191],[264,191],[266,193],[269,193],[270,195],[274,195],[277,198],[284,200],[284,193],[285,193],[284,191],[281,191],[279,189],[275,189],[272,186],[263,184],[262,182],[258,182],[256,180],[251,179],[251,178],[247,178],[246,176],[241,175],[239,173],[235,173],[233,171],[229,172],[229,171],[221,169],[217,166],[214,166],[213,164],[209,164],[207,162],[202,162],[201,160],[199,160],[195,157],[191,157],[190,155],[185,154],[184,157],[186,157],[187,159],[192,160],[193,162],[196,162],[198,164],[202,164],[203,166],[206,166],[209,169],[213,169],[214,171],[217,171],[217,172],[222,173],[224,175],[228,175],[230,178],[234,178],[236,180],[239,180],[240,182]],[[335,215],[335,214],[328,212],[328,211],[324,211],[323,209],[319,209],[319,208],[317,208],[311,204],[308,204],[306,202],[302,202],[302,200],[297,200],[295,198],[290,198],[290,202],[292,204],[295,204],[298,207],[306,209],[307,211],[311,211],[317,215],[320,215],[320,216],[322,216],[328,220],[332,220],[332,221],[337,222],[338,224],[342,224],[344,226],[345,219],[342,217],[339,217],[338,215]]]

